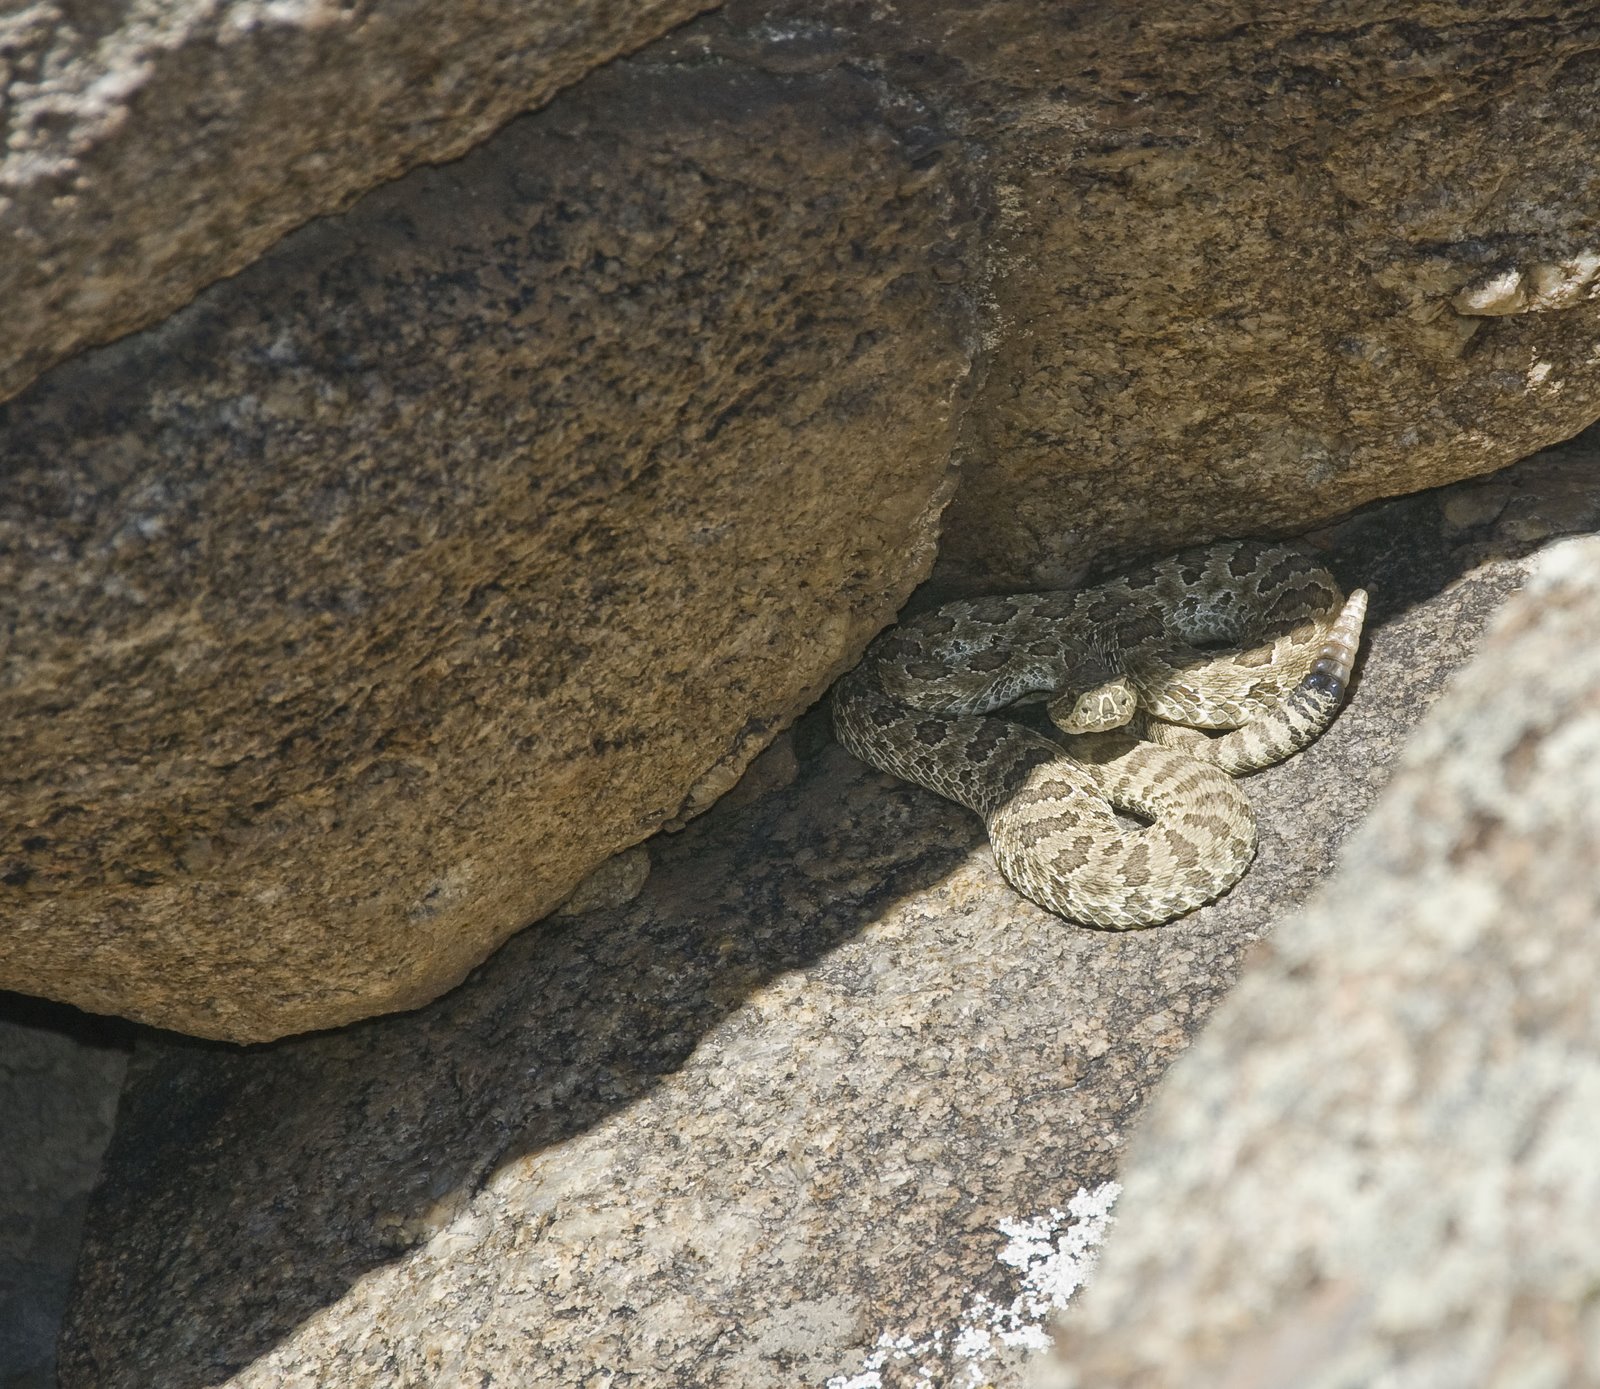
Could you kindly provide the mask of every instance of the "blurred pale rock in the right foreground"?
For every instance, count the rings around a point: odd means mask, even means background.
[[[1600,1383],[1600,539],[1168,1077],[1061,1386]]]

